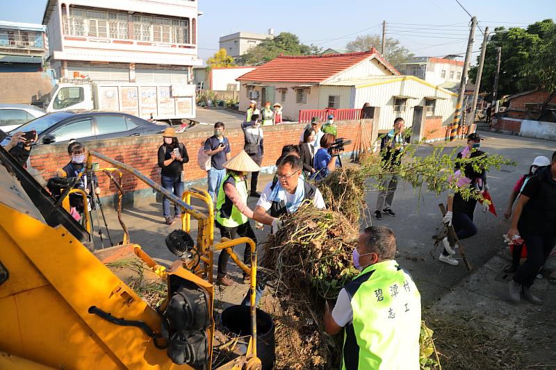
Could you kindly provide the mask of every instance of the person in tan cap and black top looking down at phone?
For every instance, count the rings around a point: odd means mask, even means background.
[[[183,163],[189,162],[186,146],[178,141],[176,130],[168,127],[162,134],[163,143],[158,148],[158,166],[161,167],[161,185],[168,192],[173,192],[181,199],[183,183],[181,171]],[[181,217],[181,208],[174,205],[174,217],[170,215],[170,201],[166,196],[162,199],[162,215],[167,225],[172,225],[174,220]]]

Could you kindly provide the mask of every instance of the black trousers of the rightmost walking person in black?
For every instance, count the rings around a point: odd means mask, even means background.
[[[527,260],[517,270],[514,281],[525,285],[525,287],[531,287],[548,255],[553,250],[556,237],[543,237],[530,233],[522,233],[521,237],[527,244]]]

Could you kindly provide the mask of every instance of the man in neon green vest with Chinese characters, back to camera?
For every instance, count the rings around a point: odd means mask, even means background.
[[[353,250],[361,274],[343,287],[332,312],[326,305],[326,332],[345,328],[342,369],[419,369],[420,294],[395,251],[389,228],[366,228]]]

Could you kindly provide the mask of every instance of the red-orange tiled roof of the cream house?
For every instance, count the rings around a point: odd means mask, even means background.
[[[373,48],[359,53],[279,56],[239,76],[236,81],[320,83],[371,57],[379,60],[391,72],[398,73]]]

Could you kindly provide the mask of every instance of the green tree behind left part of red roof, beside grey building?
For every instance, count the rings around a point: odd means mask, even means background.
[[[320,48],[314,45],[300,43],[299,37],[293,33],[282,32],[276,37],[264,40],[247,53],[238,58],[242,65],[261,65],[276,58],[280,54],[285,56],[311,56],[320,53]]]

